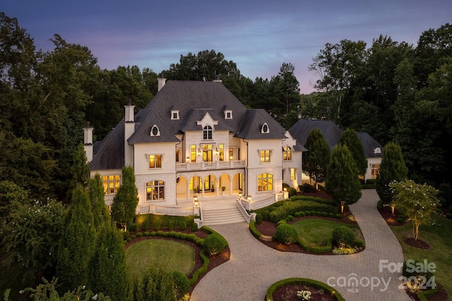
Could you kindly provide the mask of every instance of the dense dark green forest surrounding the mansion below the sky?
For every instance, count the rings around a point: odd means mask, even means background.
[[[452,25],[426,29],[417,45],[375,37],[319,49],[309,68],[317,92],[300,94],[295,66],[251,80],[215,50],[181,55],[155,73],[118,66],[102,70],[90,49],[51,38],[36,49],[16,18],[0,13],[0,181],[35,199],[66,200],[71,166],[87,121],[101,140],[124,114],[157,93],[157,78],[214,80],[246,106],[266,109],[286,129],[299,118],[323,118],[403,149],[409,177],[450,193],[452,171]]]

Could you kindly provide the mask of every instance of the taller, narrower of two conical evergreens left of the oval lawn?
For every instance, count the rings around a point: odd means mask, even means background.
[[[73,290],[88,281],[88,262],[93,254],[95,228],[88,192],[79,184],[73,191],[72,203],[61,236],[57,276],[61,292]]]

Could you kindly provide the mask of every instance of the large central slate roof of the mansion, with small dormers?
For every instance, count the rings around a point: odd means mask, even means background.
[[[227,109],[232,110],[232,119],[224,119],[226,105]],[[179,110],[179,120],[171,120],[173,108]],[[172,135],[178,135],[184,130],[201,130],[201,125],[197,125],[196,121],[205,115],[206,111],[201,116],[202,109],[208,109],[210,116],[219,121],[215,130],[230,130],[232,133],[239,132],[246,114],[246,107],[221,82],[169,80],[148,106],[137,114],[135,121],[148,119],[150,112],[154,111]],[[148,135],[148,128],[143,124],[136,128],[137,137]]]

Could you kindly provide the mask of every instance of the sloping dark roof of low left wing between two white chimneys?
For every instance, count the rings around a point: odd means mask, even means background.
[[[93,161],[90,169],[121,169],[124,165],[124,118],[112,129],[104,140],[93,145]]]

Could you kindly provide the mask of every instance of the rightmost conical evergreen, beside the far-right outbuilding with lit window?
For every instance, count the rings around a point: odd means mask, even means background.
[[[379,174],[376,176],[376,193],[386,204],[392,202],[393,192],[389,184],[393,181],[406,180],[408,168],[402,156],[402,149],[395,142],[383,147]]]

